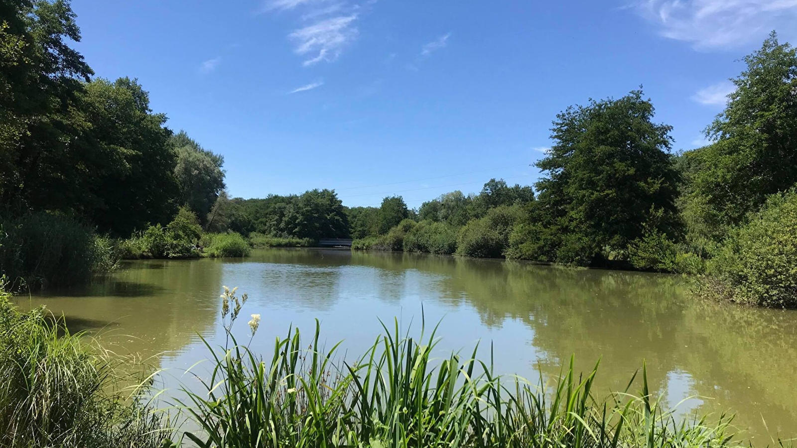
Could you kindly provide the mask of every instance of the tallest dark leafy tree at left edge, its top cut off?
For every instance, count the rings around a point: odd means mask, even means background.
[[[6,206],[52,206],[85,174],[73,148],[84,123],[74,109],[81,81],[93,72],[70,41],[80,41],[80,29],[68,2],[0,1],[0,200]]]

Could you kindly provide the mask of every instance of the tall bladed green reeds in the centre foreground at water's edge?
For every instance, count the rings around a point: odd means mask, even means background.
[[[234,290],[231,291],[234,297]],[[229,296],[230,290],[226,292]],[[238,316],[241,302],[222,316]],[[250,327],[257,330],[259,316]],[[229,327],[228,327],[229,328]],[[650,392],[643,367],[625,391],[597,399],[597,366],[533,382],[494,373],[490,361],[453,353],[433,357],[437,328],[416,340],[384,325],[364,356],[337,360],[298,329],[277,338],[267,359],[231,338],[214,350],[202,391],[180,405],[201,430],[184,433],[202,447],[724,447],[737,441],[731,417],[677,419]],[[636,377],[637,375],[634,375]],[[632,384],[641,383],[632,393]]]

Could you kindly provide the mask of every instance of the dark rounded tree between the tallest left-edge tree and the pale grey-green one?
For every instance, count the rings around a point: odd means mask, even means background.
[[[85,92],[90,128],[80,145],[102,155],[102,163],[94,164],[90,188],[96,201],[87,214],[100,230],[120,235],[170,222],[179,190],[166,116],[151,111],[149,94],[135,80],[98,79]]]

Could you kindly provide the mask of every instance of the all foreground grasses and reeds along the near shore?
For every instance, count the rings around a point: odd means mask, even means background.
[[[597,366],[578,375],[571,360],[558,378],[540,374],[536,382],[494,375],[478,347],[469,356],[434,358],[437,328],[427,333],[423,325],[414,339],[397,321],[383,324],[374,345],[347,362],[336,356],[340,344],[320,349],[316,322],[309,346],[298,328],[290,329],[262,358],[230,330],[246,298],[225,290],[229,342],[207,345],[212,374],[199,378],[198,390],[183,386],[186,399],[174,399],[150,380],[120,393],[126,381],[116,368],[120,360],[69,334],[63,320],[50,323],[45,309],[22,313],[0,294],[0,371],[9,379],[0,387],[0,442],[14,448],[748,446],[735,437],[729,415],[677,417],[663,408],[644,366],[626,391],[599,398],[592,391]],[[259,317],[249,321],[252,334]],[[148,401],[155,394],[174,405],[171,415]],[[174,428],[175,421],[201,430]]]

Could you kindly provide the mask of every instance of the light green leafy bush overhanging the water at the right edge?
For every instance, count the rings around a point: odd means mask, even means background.
[[[797,191],[771,195],[732,231],[699,292],[745,305],[797,308]]]

